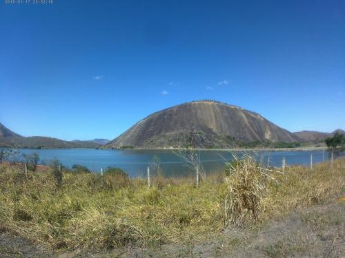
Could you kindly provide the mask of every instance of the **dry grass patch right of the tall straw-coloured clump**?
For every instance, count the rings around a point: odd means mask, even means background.
[[[333,166],[324,162],[313,166],[288,166],[284,174],[275,175],[278,184],[268,184],[266,215],[284,215],[286,211],[326,204],[345,196],[345,159]]]

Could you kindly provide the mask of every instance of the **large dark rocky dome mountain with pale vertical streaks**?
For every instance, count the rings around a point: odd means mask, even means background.
[[[158,111],[130,127],[106,147],[182,147],[193,132],[200,148],[237,147],[239,142],[296,142],[293,133],[257,113],[213,100]]]

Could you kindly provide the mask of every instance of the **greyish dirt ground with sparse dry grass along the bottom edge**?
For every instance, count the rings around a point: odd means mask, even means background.
[[[202,243],[166,244],[155,249],[56,253],[2,230],[0,257],[345,257],[344,225],[345,202],[339,200],[296,210],[248,230],[225,230]]]

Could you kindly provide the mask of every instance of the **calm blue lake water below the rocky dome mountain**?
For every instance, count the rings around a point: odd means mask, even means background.
[[[164,175],[181,176],[191,173],[188,164],[177,155],[177,151],[172,150],[19,149],[19,151],[28,155],[38,153],[40,164],[49,164],[57,159],[64,166],[81,164],[98,173],[101,167],[106,169],[108,166],[117,166],[132,177],[145,175],[148,164],[157,156]],[[233,153],[230,151],[202,150],[197,153],[206,173],[221,171],[226,162],[233,158]],[[269,160],[270,165],[273,166],[282,166],[283,157],[287,165],[308,166],[311,153],[313,153],[313,164],[330,159],[328,151],[255,151],[252,154],[257,160],[264,160],[264,164]],[[237,154],[242,155],[242,152]],[[341,155],[344,156],[344,152]]]

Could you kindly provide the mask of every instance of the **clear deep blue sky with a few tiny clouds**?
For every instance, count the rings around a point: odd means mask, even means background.
[[[345,1],[0,3],[0,122],[115,138],[214,99],[289,131],[345,129]]]

